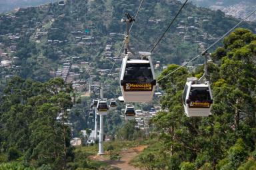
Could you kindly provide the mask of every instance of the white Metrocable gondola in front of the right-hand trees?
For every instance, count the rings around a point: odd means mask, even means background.
[[[211,115],[213,95],[209,81],[199,83],[197,78],[187,78],[183,91],[183,106],[187,117],[208,117]]]

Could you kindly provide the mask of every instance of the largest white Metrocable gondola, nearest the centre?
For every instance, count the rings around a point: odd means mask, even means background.
[[[149,102],[153,98],[156,79],[151,53],[139,52],[141,59],[123,59],[120,85],[125,103]]]

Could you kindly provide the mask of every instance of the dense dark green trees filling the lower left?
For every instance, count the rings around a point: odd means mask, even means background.
[[[0,161],[19,160],[47,169],[65,167],[72,159],[67,125],[68,109],[75,101],[72,91],[63,79],[46,83],[12,79],[1,97]]]

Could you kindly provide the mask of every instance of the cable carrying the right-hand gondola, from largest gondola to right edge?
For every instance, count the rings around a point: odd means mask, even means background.
[[[194,61],[195,59],[197,59],[198,57],[201,57],[203,55],[206,55],[207,51],[209,49],[211,49],[211,47],[213,47],[213,45],[215,45],[216,43],[218,43],[219,41],[221,41],[221,39],[223,39],[223,37],[225,37],[227,34],[229,34],[231,31],[233,31],[236,27],[238,27],[241,23],[243,23],[243,21],[245,21],[246,19],[248,19],[249,17],[251,17],[251,15],[253,15],[253,13],[255,13],[255,11],[253,11],[252,13],[250,13],[249,15],[247,15],[247,17],[245,17],[244,19],[242,19],[237,25],[235,25],[235,27],[233,27],[232,29],[230,29],[229,31],[227,31],[227,33],[225,33],[222,37],[220,37],[219,39],[217,39],[217,41],[215,41],[215,43],[213,43],[212,45],[210,45],[207,49],[205,49],[205,51],[203,51],[203,53],[201,53],[201,55],[197,55],[197,57],[194,57],[193,59],[189,60],[187,63],[181,65],[180,67],[178,67],[177,69],[175,69],[174,71],[171,71],[171,73],[165,75],[164,77],[162,77],[161,79],[157,80],[157,83],[159,81],[161,81],[162,79],[165,79],[166,77],[168,77],[169,75],[175,73],[176,71],[178,71],[179,69],[181,69],[182,67],[188,65],[189,63],[191,63],[192,61]]]

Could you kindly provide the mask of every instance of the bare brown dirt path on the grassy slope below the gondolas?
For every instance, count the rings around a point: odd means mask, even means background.
[[[91,157],[91,159],[94,159],[97,161],[105,161],[109,165],[111,165],[111,167],[117,167],[117,168],[123,169],[123,170],[139,170],[139,168],[129,165],[129,162],[135,156],[137,156],[141,151],[143,151],[143,149],[145,149],[146,147],[147,146],[143,145],[143,146],[139,146],[139,147],[129,148],[126,151],[122,151],[120,153],[121,159],[119,161],[109,160],[106,157],[102,157],[102,156],[94,156],[94,157]]]

